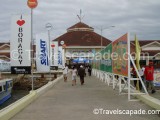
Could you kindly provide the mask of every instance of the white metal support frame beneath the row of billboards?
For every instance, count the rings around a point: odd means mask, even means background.
[[[139,78],[130,78],[128,80],[128,78],[125,76],[117,75],[119,77],[117,79],[115,77],[116,74],[108,73],[108,72],[96,70],[96,69],[93,69],[92,73],[100,81],[106,83],[108,86],[112,86],[113,90],[116,90],[116,88],[118,88],[119,95],[129,94],[131,96],[131,95],[147,94],[145,91],[144,92],[137,91],[136,88],[132,84],[128,84],[129,80],[130,81],[140,80]],[[141,82],[143,82],[143,81],[141,81]],[[142,83],[142,86],[143,86],[143,84],[144,83]],[[143,89],[145,90],[146,88],[144,88],[144,87],[145,86],[143,86]],[[130,91],[130,93],[128,93],[128,91]],[[135,101],[135,100],[130,99],[130,101]]]

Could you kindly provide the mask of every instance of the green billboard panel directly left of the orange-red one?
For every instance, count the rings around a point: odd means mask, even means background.
[[[105,49],[101,51],[102,60],[100,64],[100,70],[112,73],[112,44],[109,44]]]

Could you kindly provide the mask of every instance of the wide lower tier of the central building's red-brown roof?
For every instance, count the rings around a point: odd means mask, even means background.
[[[72,31],[55,39],[60,45],[64,41],[66,46],[101,46],[101,36],[90,31]],[[111,41],[102,37],[102,46],[107,46]]]

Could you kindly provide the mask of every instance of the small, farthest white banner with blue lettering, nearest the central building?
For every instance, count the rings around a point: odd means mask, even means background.
[[[64,67],[64,49],[62,46],[58,47],[58,68]]]

